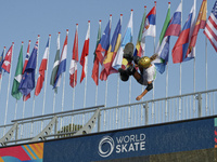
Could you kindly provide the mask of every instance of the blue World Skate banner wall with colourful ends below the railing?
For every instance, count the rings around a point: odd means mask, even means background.
[[[10,146],[0,148],[0,162],[215,162],[216,148],[217,118],[212,117]]]

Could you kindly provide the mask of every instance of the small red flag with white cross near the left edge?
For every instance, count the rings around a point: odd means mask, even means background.
[[[11,70],[11,59],[12,59],[12,53],[13,53],[13,45],[14,43],[12,43],[11,48],[9,49],[9,51],[5,54],[5,57],[3,59],[2,63],[2,69],[4,69],[4,71],[7,71],[8,73],[10,73]]]

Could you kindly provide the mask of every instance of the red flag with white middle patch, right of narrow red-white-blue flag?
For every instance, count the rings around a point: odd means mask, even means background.
[[[78,24],[76,24],[75,39],[73,45],[73,57],[71,60],[69,79],[71,86],[75,87],[77,84],[77,64],[78,64]]]

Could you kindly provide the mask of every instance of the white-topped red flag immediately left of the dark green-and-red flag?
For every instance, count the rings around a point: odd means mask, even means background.
[[[82,82],[84,78],[87,73],[87,65],[88,65],[88,54],[89,54],[89,40],[90,40],[90,21],[88,21],[88,31],[86,35],[84,48],[82,48],[82,54],[80,56],[80,65],[82,66],[81,77],[80,77],[80,83]]]

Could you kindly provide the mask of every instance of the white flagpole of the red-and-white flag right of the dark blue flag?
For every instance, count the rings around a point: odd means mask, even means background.
[[[42,116],[44,114],[46,109],[46,91],[47,91],[47,78],[48,78],[48,67],[49,67],[49,54],[50,54],[50,43],[51,43],[51,35],[49,35],[49,50],[48,50],[48,58],[47,58],[47,67],[46,67],[46,80],[44,80],[44,91],[43,91],[43,108],[42,108]],[[41,131],[43,127],[43,121],[41,123]]]

